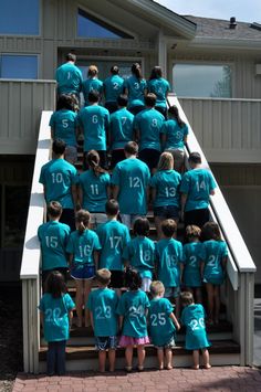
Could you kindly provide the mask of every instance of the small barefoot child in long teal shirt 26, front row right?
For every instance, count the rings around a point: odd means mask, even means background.
[[[187,350],[194,352],[195,370],[199,369],[199,351],[202,352],[203,368],[210,369],[208,347],[210,346],[205,327],[205,310],[201,304],[194,303],[194,296],[189,292],[181,293],[181,304],[184,310],[181,314],[181,324],[186,327]]]

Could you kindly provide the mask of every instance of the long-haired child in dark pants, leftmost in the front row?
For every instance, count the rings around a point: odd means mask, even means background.
[[[45,294],[39,305],[44,339],[48,341],[48,375],[53,375],[55,371],[59,375],[65,373],[65,347],[74,306],[66,294],[63,275],[52,271],[46,278]]]

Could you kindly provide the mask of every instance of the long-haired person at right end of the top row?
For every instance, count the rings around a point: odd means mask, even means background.
[[[148,92],[156,95],[157,100],[155,108],[167,118],[167,97],[170,91],[170,85],[166,78],[163,77],[161,66],[156,65],[147,82]]]

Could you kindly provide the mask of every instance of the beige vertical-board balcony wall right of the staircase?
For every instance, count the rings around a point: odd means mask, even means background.
[[[261,100],[179,102],[210,162],[261,162]]]

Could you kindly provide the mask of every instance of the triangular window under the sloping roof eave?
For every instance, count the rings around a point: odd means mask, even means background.
[[[77,36],[90,39],[133,39],[133,36],[80,9],[77,13]]]

